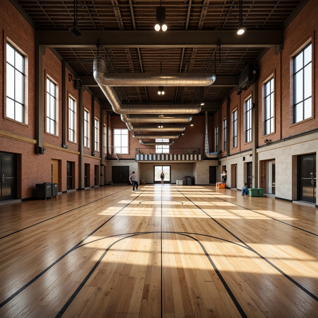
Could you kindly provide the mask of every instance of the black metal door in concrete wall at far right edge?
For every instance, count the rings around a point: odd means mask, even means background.
[[[316,155],[298,157],[298,198],[316,203]]]

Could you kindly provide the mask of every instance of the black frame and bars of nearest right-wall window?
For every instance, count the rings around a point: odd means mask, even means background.
[[[310,59],[310,62],[308,62],[306,65],[304,65],[304,51],[309,47],[311,46],[311,59]],[[297,71],[295,71],[296,69],[296,59],[297,57],[302,54],[302,67],[300,69],[298,69]],[[293,112],[294,112],[294,118],[293,118],[293,123],[296,124],[296,123],[299,123],[303,120],[308,120],[309,118],[312,118],[313,116],[313,110],[312,110],[312,97],[313,97],[313,92],[312,92],[312,74],[313,74],[313,43],[312,41],[310,41],[309,43],[307,43],[299,52],[297,52],[297,54],[295,54],[293,56],[293,90],[294,90],[294,93],[293,93]],[[311,66],[310,67],[310,76],[305,76],[305,72],[304,72],[304,69],[306,68],[306,66]],[[296,103],[296,94],[297,94],[297,87],[296,87],[296,77],[297,77],[297,74],[299,74],[300,72],[302,71],[302,100],[298,101]],[[306,81],[306,79],[310,78],[310,83],[308,83],[308,80]],[[311,91],[310,91],[310,96],[308,97],[305,97],[305,87],[310,87],[311,88]],[[306,100],[309,100],[310,99],[310,105],[308,107],[308,109],[310,109],[310,116],[305,117],[305,113],[306,113],[306,110],[305,110],[305,101]],[[302,118],[297,120],[297,106],[300,105],[302,103]]]

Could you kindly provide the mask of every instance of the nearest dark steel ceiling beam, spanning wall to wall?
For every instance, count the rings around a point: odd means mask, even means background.
[[[216,47],[219,39],[222,48],[275,47],[283,43],[282,30],[246,31],[238,36],[235,31],[82,31],[83,35],[75,37],[70,31],[39,31],[39,44],[55,48],[95,48],[100,45],[112,47]]]

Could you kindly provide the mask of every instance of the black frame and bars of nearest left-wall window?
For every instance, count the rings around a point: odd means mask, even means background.
[[[10,48],[14,51],[14,65],[12,65],[10,63],[10,61],[8,60],[8,56],[9,54],[7,54],[7,51],[8,51],[8,46],[10,46]],[[26,62],[26,57],[25,55],[17,49],[16,46],[14,46],[12,43],[10,43],[8,40],[6,40],[6,46],[5,46],[5,83],[4,83],[4,89],[5,89],[5,117],[6,118],[9,118],[10,120],[14,120],[14,121],[17,121],[19,123],[25,123],[25,99],[26,99],[26,96],[25,96],[25,86],[26,86],[26,83],[25,83],[25,78],[26,78],[26,65],[27,65],[27,62]],[[22,70],[20,70],[19,68],[17,68],[17,65],[16,65],[16,54],[18,54],[21,58],[22,58]],[[11,96],[8,96],[7,93],[8,93],[8,90],[7,90],[7,87],[9,85],[8,83],[8,69],[9,67],[13,68],[13,78],[14,78],[14,88],[13,88],[13,94],[14,94],[14,98],[12,98]],[[17,96],[16,96],[16,85],[17,85],[17,80],[16,80],[16,73],[19,73],[21,74],[21,101],[18,101],[17,100]],[[4,93],[4,92],[3,92]],[[10,114],[8,113],[8,109],[9,109],[9,103],[8,103],[8,100],[10,101],[13,101],[13,116],[14,118],[10,117]],[[21,107],[21,120],[17,119],[18,116],[17,116],[17,110],[16,110],[16,104],[20,105]]]

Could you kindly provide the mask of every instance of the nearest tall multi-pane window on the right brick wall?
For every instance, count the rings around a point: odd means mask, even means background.
[[[294,122],[311,117],[311,43],[294,57]]]

